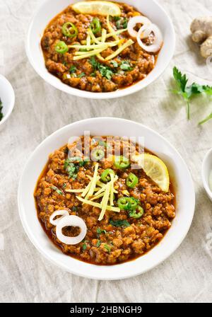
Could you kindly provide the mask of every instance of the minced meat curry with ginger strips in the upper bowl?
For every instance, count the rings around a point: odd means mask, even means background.
[[[128,4],[117,6],[120,16],[77,13],[73,5],[59,13],[42,35],[47,70],[71,87],[95,93],[117,91],[145,79],[159,51],[146,52],[129,35],[129,20],[141,13]],[[139,28],[138,23],[135,30]],[[151,33],[144,42],[153,40]]]

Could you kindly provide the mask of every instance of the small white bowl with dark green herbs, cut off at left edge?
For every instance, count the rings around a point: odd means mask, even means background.
[[[0,131],[3,129],[6,120],[11,115],[15,104],[15,93],[11,83],[0,74],[0,99],[2,102],[3,119],[0,121]]]

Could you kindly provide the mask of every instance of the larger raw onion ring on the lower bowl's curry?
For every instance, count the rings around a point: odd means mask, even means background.
[[[62,229],[65,226],[78,226],[81,229],[81,233],[78,236],[64,236]],[[80,243],[85,238],[87,233],[87,227],[85,221],[78,216],[65,216],[59,219],[56,226],[56,235],[59,241],[65,244],[73,245]]]

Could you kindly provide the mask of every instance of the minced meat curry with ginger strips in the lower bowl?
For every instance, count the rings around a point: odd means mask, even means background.
[[[73,258],[96,265],[133,260],[151,250],[170,228],[175,217],[172,186],[168,184],[166,192],[161,190],[143,168],[133,165],[131,158],[140,153],[138,144],[126,159],[129,142],[125,139],[90,137],[88,160],[84,140],[80,138],[81,149],[73,142],[50,154],[35,188],[37,216],[54,244]],[[106,156],[108,151],[110,155]],[[144,151],[144,155],[151,154]],[[88,197],[90,182],[93,192]],[[110,188],[112,196],[104,188]],[[87,231],[80,243],[70,245],[59,240],[56,226],[49,221],[58,210],[83,219]],[[80,231],[77,226],[65,226],[62,234],[75,237]]]

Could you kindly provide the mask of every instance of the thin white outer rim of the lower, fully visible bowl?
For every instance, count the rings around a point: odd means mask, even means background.
[[[122,120],[122,122],[130,122],[131,124],[136,124],[136,125],[139,125],[141,128],[143,129],[147,129],[148,132],[151,132],[153,134],[156,134],[158,137],[160,137],[161,139],[163,139],[163,141],[165,141],[165,143],[167,143],[168,146],[170,146],[170,148],[172,148],[175,152],[177,152],[178,156],[179,156],[179,159],[182,163],[182,165],[184,166],[184,168],[187,170],[187,175],[189,177],[189,182],[190,182],[190,185],[192,186],[192,189],[191,189],[191,192],[192,192],[192,195],[189,197],[189,201],[191,202],[191,206],[192,208],[190,208],[190,214],[189,214],[189,219],[187,221],[187,224],[186,226],[184,226],[184,229],[183,229],[183,234],[181,232],[180,234],[180,238],[178,238],[177,240],[177,243],[175,244],[174,248],[169,248],[169,250],[165,253],[165,255],[163,255],[162,258],[160,258],[160,260],[157,260],[155,261],[155,263],[151,264],[151,265],[148,265],[148,267],[145,269],[145,270],[140,270],[139,272],[131,272],[131,273],[128,273],[128,274],[124,274],[122,272],[122,276],[119,276],[119,277],[105,277],[105,276],[94,276],[93,273],[90,274],[89,270],[88,270],[88,273],[82,273],[81,271],[77,271],[73,269],[73,267],[71,268],[67,268],[66,265],[64,263],[59,263],[58,260],[52,258],[51,255],[48,254],[48,252],[45,250],[45,248],[42,248],[42,246],[40,246],[40,244],[37,242],[34,234],[32,233],[33,231],[30,229],[30,226],[28,226],[28,223],[27,221],[25,220],[25,212],[24,212],[24,208],[22,207],[22,203],[21,203],[21,186],[22,186],[22,183],[23,183],[23,176],[25,174],[25,171],[28,167],[28,164],[30,163],[31,159],[33,159],[33,156],[35,155],[35,152],[37,152],[40,148],[42,148],[43,144],[45,144],[45,142],[47,142],[49,139],[51,139],[52,137],[56,136],[58,133],[61,134],[61,132],[65,131],[66,129],[69,129],[71,126],[73,127],[73,125],[78,125],[78,123],[83,123],[83,122],[88,122],[88,121],[93,121],[95,122],[95,120],[114,120],[114,121],[117,121],[117,120]],[[33,197],[32,197],[33,199]],[[172,144],[170,144],[170,142],[165,139],[165,137],[163,137],[162,135],[160,135],[158,132],[155,132],[153,129],[149,128],[149,127],[146,127],[145,125],[142,125],[141,123],[139,122],[135,122],[135,121],[132,121],[132,120],[126,120],[126,119],[122,119],[122,118],[119,118],[119,117],[95,117],[95,118],[89,118],[89,119],[85,119],[85,120],[78,120],[76,122],[72,122],[71,124],[69,125],[66,125],[64,127],[61,127],[60,129],[57,129],[57,131],[53,132],[52,134],[50,134],[47,138],[45,138],[36,148],[35,150],[33,151],[32,154],[30,154],[27,162],[25,163],[25,166],[23,168],[23,172],[22,172],[22,175],[20,177],[20,180],[19,180],[19,184],[18,184],[18,213],[19,213],[19,217],[20,217],[20,221],[23,225],[23,228],[25,229],[25,233],[27,234],[28,238],[30,239],[30,241],[33,243],[33,245],[35,246],[35,248],[37,248],[37,250],[40,251],[40,253],[45,257],[47,258],[47,260],[49,260],[51,263],[53,263],[54,265],[57,265],[57,267],[60,267],[62,268],[63,270],[66,270],[67,272],[71,272],[72,274],[74,275],[78,275],[80,277],[86,277],[86,278],[90,278],[90,279],[98,279],[98,280],[117,280],[117,279],[127,279],[129,277],[135,277],[135,276],[138,276],[138,275],[141,275],[143,274],[144,272],[148,272],[149,270],[152,270],[153,267],[156,267],[158,266],[160,263],[163,263],[164,260],[166,260],[168,257],[170,257],[170,255],[172,253],[175,252],[175,250],[177,250],[177,248],[180,246],[180,244],[182,243],[182,241],[184,240],[185,236],[187,236],[187,233],[190,229],[190,226],[192,224],[192,219],[194,217],[194,209],[195,209],[195,191],[194,191],[194,182],[192,180],[192,175],[191,173],[189,172],[189,169],[187,168],[187,164],[184,162],[184,159],[182,159],[182,156],[179,154],[179,152],[177,151],[177,149],[175,149],[175,146],[172,146]],[[172,227],[170,228],[170,230],[172,229]],[[162,239],[163,241],[163,239]],[[151,250],[150,250],[151,252]],[[67,256],[67,255],[64,255],[64,256]],[[141,257],[139,257],[141,258]],[[78,260],[77,260],[78,261]],[[134,260],[136,261],[136,259]],[[133,262],[133,261],[131,261]],[[129,262],[126,262],[126,263],[129,263]],[[92,265],[90,263],[86,263],[87,265]],[[125,263],[121,263],[121,265],[124,265]],[[108,265],[106,265],[108,267]],[[117,265],[110,265],[110,267],[113,267],[113,266],[117,266]]]

